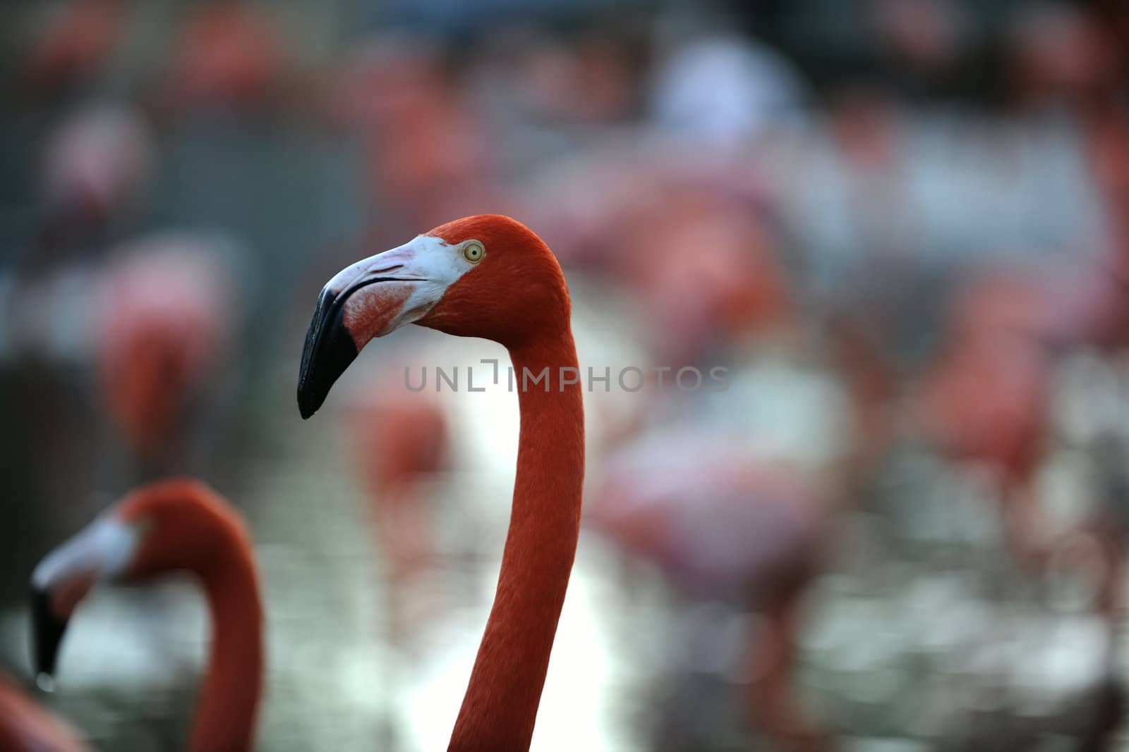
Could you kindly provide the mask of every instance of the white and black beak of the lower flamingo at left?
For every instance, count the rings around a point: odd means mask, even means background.
[[[125,572],[139,530],[112,515],[95,520],[53,550],[32,574],[32,662],[38,676],[53,676],[59,648],[75,608],[95,582]]]

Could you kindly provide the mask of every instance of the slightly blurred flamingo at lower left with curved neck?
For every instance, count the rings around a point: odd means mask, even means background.
[[[187,749],[250,751],[263,683],[259,573],[243,520],[202,483],[172,479],[134,490],[36,566],[36,670],[54,674],[68,619],[96,582],[145,582],[173,572],[198,577],[212,621]]]

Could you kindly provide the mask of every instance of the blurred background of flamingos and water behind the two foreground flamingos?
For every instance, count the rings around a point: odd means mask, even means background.
[[[257,545],[259,749],[444,749],[505,351],[294,395],[330,276],[505,213],[612,373],[535,750],[1129,750],[1127,51],[1119,0],[3,3],[2,671],[38,558],[191,474]],[[100,589],[36,700],[182,749],[207,644],[191,582]]]

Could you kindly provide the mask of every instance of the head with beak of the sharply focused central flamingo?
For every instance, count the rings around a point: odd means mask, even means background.
[[[467,216],[345,267],[322,289],[306,335],[298,407],[308,418],[373,338],[406,324],[514,350],[569,328],[557,258],[522,223]]]

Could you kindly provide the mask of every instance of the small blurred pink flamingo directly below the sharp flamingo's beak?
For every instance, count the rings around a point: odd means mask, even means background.
[[[402,381],[387,378],[352,400],[349,424],[385,560],[388,618],[399,639],[414,621],[404,612],[404,600],[435,555],[426,489],[448,453],[447,416],[429,393],[409,391]]]

